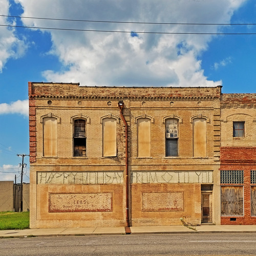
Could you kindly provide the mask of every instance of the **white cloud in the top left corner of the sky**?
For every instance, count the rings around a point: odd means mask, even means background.
[[[0,0],[0,10],[2,15],[9,14],[9,1]],[[15,25],[15,20],[10,21],[7,17],[0,16],[1,25]],[[19,39],[15,35],[14,28],[0,27],[0,73],[9,58],[19,58],[23,56],[27,49],[25,39]]]

